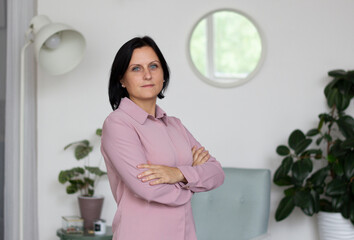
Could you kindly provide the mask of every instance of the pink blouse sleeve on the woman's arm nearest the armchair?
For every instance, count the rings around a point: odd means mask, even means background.
[[[183,125],[182,125],[183,126]],[[183,126],[183,129],[190,142],[190,147],[201,147],[201,144],[193,137],[193,135]],[[180,185],[192,192],[205,192],[219,187],[224,182],[224,171],[218,161],[212,156],[209,160],[198,166],[179,166],[178,167],[187,179],[188,183]]]

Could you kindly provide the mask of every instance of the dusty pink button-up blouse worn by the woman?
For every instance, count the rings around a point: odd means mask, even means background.
[[[224,172],[210,157],[192,167],[192,147],[201,145],[175,117],[156,106],[148,115],[128,98],[102,129],[101,151],[117,202],[113,240],[195,240],[191,197],[220,186]],[[188,183],[149,185],[137,178],[143,163],[178,167]]]

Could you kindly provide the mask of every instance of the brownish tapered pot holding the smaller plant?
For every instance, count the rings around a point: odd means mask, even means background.
[[[84,219],[85,230],[93,229],[93,222],[101,218],[103,196],[84,197],[79,196],[81,218]]]

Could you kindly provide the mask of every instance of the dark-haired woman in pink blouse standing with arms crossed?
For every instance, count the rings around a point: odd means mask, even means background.
[[[151,38],[119,49],[109,80],[114,111],[101,145],[118,205],[114,240],[197,239],[191,197],[224,181],[220,163],[156,105],[168,83],[168,65]]]

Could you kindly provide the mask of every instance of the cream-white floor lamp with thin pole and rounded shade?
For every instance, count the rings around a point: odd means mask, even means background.
[[[19,156],[19,238],[23,240],[23,190],[24,190],[24,95],[25,95],[25,52],[34,45],[36,60],[51,75],[65,74],[82,60],[85,51],[83,35],[62,23],[52,23],[47,16],[32,18],[26,33],[26,43],[21,49],[20,76],[20,156]]]

